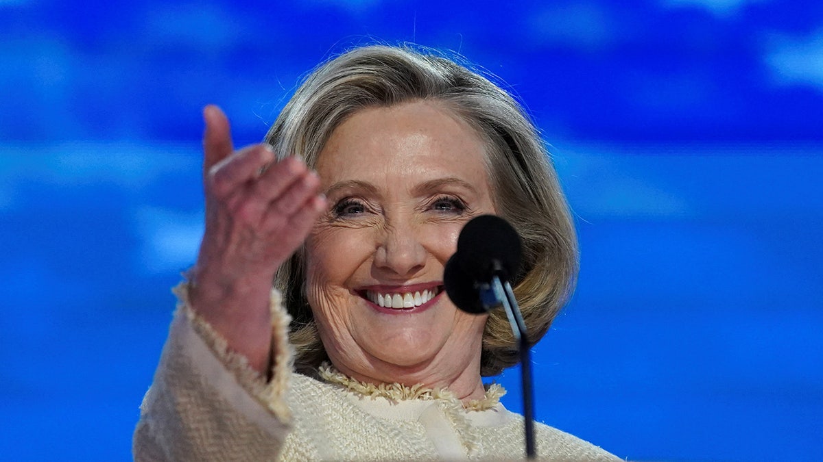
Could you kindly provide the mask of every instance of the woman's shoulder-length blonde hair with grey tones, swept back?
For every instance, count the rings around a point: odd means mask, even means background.
[[[312,72],[286,104],[266,142],[281,156],[297,155],[314,168],[323,145],[352,113],[428,99],[466,120],[486,143],[488,172],[499,214],[523,239],[523,266],[515,279],[529,341],[537,343],[574,290],[577,238],[536,128],[518,102],[454,58],[409,46],[370,45],[351,50]],[[277,271],[294,321],[295,367],[316,370],[327,358],[304,293],[300,252]],[[483,333],[481,374],[518,362],[517,344],[503,310],[491,312]]]

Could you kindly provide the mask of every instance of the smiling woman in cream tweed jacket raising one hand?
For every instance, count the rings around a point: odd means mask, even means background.
[[[459,311],[442,282],[463,224],[496,214],[523,238],[534,342],[572,288],[569,212],[514,99],[370,46],[309,76],[262,146],[233,152],[221,111],[204,118],[206,231],[135,458],[522,457],[522,418],[481,381],[516,363],[508,321]],[[537,453],[615,459],[545,425]]]

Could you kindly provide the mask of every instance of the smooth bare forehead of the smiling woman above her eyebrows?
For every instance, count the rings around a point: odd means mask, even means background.
[[[360,109],[332,132],[316,167],[327,185],[343,178],[420,173],[487,184],[481,136],[436,101]]]

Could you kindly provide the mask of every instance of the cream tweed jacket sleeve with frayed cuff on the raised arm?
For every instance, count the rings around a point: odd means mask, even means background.
[[[289,316],[272,290],[272,379],[266,381],[188,304],[179,303],[140,407],[134,460],[274,460],[290,429]]]

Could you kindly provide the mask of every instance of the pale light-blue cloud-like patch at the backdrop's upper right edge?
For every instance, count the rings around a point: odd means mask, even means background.
[[[764,60],[775,81],[823,91],[823,27],[805,38],[773,35],[765,48]]]

